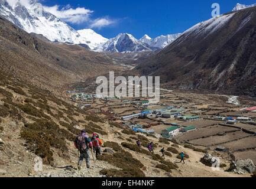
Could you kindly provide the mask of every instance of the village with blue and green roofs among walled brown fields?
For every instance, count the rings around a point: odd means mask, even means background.
[[[256,164],[256,107],[242,105],[239,97],[161,90],[160,102],[150,104],[145,97],[99,96],[92,87],[74,87],[66,95],[132,131]]]

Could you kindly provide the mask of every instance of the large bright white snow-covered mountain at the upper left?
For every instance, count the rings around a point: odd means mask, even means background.
[[[26,6],[20,2],[9,5],[7,1],[0,0],[0,15],[22,30],[42,34],[50,41],[86,44],[94,49],[108,40],[92,30],[74,30],[66,22],[45,11],[43,5],[35,0],[31,0]]]

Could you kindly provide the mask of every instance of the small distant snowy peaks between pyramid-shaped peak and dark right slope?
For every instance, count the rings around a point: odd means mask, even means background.
[[[176,38],[178,38],[181,34],[171,34],[171,35],[160,35],[156,38],[150,38],[148,35],[144,35],[140,41],[142,43],[147,43],[151,47],[155,48],[164,48],[167,45],[171,44]]]

